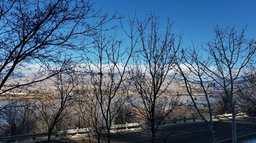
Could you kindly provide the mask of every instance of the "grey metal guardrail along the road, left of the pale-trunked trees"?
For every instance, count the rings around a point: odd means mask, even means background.
[[[179,121],[186,122],[187,120],[202,120],[198,117],[193,118],[181,118],[181,119],[173,119],[173,120],[163,120],[161,123],[165,125],[172,125],[170,123],[176,123]],[[138,126],[148,125],[147,122],[142,123],[129,123],[129,124],[119,124],[119,125],[112,125],[111,129],[117,129],[117,128],[137,128]],[[53,131],[51,135],[61,135],[61,134],[76,134],[76,133],[84,133],[88,131],[94,131],[94,128],[82,128],[82,129],[72,129],[72,130],[66,130],[66,131]],[[33,138],[35,137],[44,137],[48,136],[48,133],[34,133],[34,134],[24,134],[24,135],[14,135],[14,136],[4,136],[0,137],[0,141],[8,141],[8,140],[16,140],[16,139],[25,139],[25,138]]]

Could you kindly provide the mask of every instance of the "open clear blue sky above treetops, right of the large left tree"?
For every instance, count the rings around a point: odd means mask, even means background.
[[[207,1],[207,0],[180,0],[180,1],[145,1],[145,0],[94,0],[94,8],[102,7],[102,11],[110,15],[115,11],[124,15],[133,15],[135,8],[139,18],[155,13],[160,17],[160,25],[165,26],[167,17],[174,21],[173,32],[183,33],[183,46],[201,45],[214,38],[213,26],[218,24],[225,28],[228,25],[236,26],[240,31],[248,24],[246,37],[256,37],[256,1]]]

